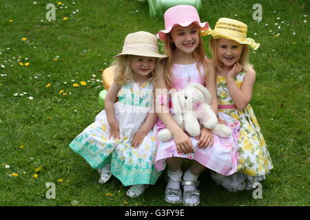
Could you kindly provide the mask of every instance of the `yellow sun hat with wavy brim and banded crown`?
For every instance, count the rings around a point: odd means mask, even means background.
[[[256,50],[260,43],[247,38],[247,25],[234,19],[220,18],[216,22],[214,30],[201,30],[201,36],[211,35],[214,39],[230,39],[241,44],[247,44]]]

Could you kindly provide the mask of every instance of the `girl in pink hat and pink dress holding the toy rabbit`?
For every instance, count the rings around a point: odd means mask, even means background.
[[[202,128],[198,137],[190,137],[172,118],[173,107],[165,100],[170,91],[184,89],[189,83],[205,85],[212,96],[211,107],[216,111],[215,79],[210,78],[211,70],[205,56],[200,30],[207,30],[208,23],[200,22],[196,8],[190,5],[177,5],[165,12],[165,30],[158,32],[158,37],[165,43],[165,60],[162,71],[158,72],[156,87],[156,112],[160,120],[156,123],[157,131],[163,128],[172,132],[173,139],[158,142],[155,166],[158,171],[167,164],[167,186],[165,200],[169,203],[180,203],[185,206],[197,206],[200,202],[198,176],[205,168],[210,168],[222,175],[231,175],[236,171],[236,142],[238,139],[238,121],[228,115],[219,113],[233,135],[220,138],[208,129]],[[165,92],[166,91],[166,92]],[[161,100],[161,101],[160,101]],[[161,109],[158,112],[157,109]],[[180,166],[184,159],[191,159],[192,164],[184,173]],[[182,177],[183,176],[183,177]],[[183,194],[180,184],[183,186]]]

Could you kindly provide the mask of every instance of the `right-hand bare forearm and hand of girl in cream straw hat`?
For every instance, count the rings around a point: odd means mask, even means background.
[[[147,115],[147,118],[145,119],[143,126],[141,126],[141,128],[138,129],[138,131],[134,134],[134,138],[132,138],[132,146],[134,146],[134,148],[140,146],[140,144],[143,142],[144,137],[154,127],[156,120],[157,120],[156,113],[152,112]]]

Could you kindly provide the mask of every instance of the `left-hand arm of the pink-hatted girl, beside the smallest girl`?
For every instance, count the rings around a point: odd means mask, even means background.
[[[164,65],[161,65],[161,69],[159,69],[158,76],[156,78],[157,79],[154,83],[154,98],[157,99],[159,96],[165,96],[168,99],[167,85],[165,83],[164,76]],[[161,121],[165,124],[166,128],[172,133],[178,151],[183,153],[193,153],[194,148],[192,141],[189,139],[188,135],[184,133],[183,129],[181,129],[178,124],[176,124],[174,118],[172,118],[172,115],[169,113],[165,104],[162,105],[156,101],[155,111]]]

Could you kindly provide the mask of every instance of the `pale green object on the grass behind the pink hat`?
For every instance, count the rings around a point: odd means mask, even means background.
[[[175,5],[192,5],[196,8],[198,13],[201,11],[201,0],[148,0],[149,1],[149,14],[151,17],[160,16],[163,17],[163,14],[168,8],[171,8]]]

